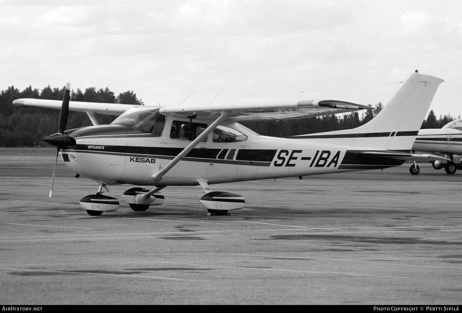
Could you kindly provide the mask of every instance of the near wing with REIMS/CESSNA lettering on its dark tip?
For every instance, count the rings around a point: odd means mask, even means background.
[[[303,100],[287,102],[239,103],[239,104],[208,104],[162,107],[164,115],[193,116],[201,118],[218,117],[220,111],[228,111],[231,120],[262,120],[262,119],[297,119],[317,117],[329,114],[346,113],[356,110],[373,110],[362,104],[354,104],[338,100]]]

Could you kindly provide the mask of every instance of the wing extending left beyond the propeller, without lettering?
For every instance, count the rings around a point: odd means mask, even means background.
[[[13,101],[13,104],[19,106],[38,106],[41,108],[61,110],[61,100],[43,100],[23,98]],[[69,101],[69,110],[81,112],[93,112],[99,114],[121,115],[126,110],[135,105],[132,104],[117,104],[117,103],[97,103],[97,102],[79,102]]]

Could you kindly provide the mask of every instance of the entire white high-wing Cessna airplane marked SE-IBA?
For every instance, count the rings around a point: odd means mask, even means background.
[[[69,103],[69,84],[62,104],[38,99],[14,104],[61,108],[58,133],[44,140],[57,147],[56,159],[61,156],[71,171],[98,182],[97,193],[80,200],[90,215],[118,209],[116,198],[102,194],[110,184],[154,186],[132,187],[122,194],[135,211],[164,203],[160,190],[167,186],[200,185],[206,192],[203,206],[213,215],[225,215],[242,209],[244,198],[210,191],[210,184],[383,169],[416,158],[446,160],[409,153],[442,81],[416,71],[369,123],[290,138],[261,136],[236,121],[371,108],[334,100],[167,107]],[[68,110],[85,111],[95,126],[65,131]],[[120,116],[98,125],[95,113]]]

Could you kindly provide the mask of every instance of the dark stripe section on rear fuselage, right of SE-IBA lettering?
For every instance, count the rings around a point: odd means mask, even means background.
[[[345,156],[343,157],[342,162],[340,163],[339,170],[372,170],[379,168],[387,168],[393,166],[400,166],[406,160],[396,160],[387,157],[380,156],[364,156],[361,155],[361,151],[347,150]]]

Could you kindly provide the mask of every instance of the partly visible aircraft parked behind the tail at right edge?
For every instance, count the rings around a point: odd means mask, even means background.
[[[435,170],[444,168],[446,173],[454,174],[462,169],[461,162],[455,162],[454,158],[454,155],[462,155],[462,118],[447,123],[441,129],[420,129],[412,152],[430,152],[450,159],[444,163],[433,160],[432,166]],[[409,172],[413,175],[419,174],[420,166],[416,161],[410,164]]]

